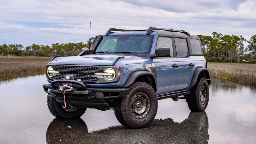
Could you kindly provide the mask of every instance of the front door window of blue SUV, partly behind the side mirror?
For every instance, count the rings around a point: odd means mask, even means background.
[[[173,57],[172,49],[172,38],[170,37],[158,37],[156,43],[156,49],[169,47],[170,48],[170,57]]]

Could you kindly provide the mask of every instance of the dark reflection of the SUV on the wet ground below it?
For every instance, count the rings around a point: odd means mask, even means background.
[[[187,119],[176,123],[171,118],[155,119],[144,129],[109,127],[88,133],[85,122],[79,119],[55,118],[46,131],[46,143],[208,143],[208,117],[206,112],[191,112]]]

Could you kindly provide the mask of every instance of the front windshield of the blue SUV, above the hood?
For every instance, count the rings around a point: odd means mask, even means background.
[[[153,35],[103,36],[95,52],[149,54]]]

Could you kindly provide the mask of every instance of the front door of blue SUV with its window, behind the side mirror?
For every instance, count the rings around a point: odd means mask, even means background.
[[[154,58],[156,62],[157,95],[171,93],[179,90],[179,62],[173,49],[174,39],[171,37],[158,37],[156,49],[170,48],[169,57]]]

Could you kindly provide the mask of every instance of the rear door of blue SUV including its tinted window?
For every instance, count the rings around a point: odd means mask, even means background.
[[[179,61],[179,91],[188,90],[194,72],[194,59],[189,57],[188,39],[174,38]]]

